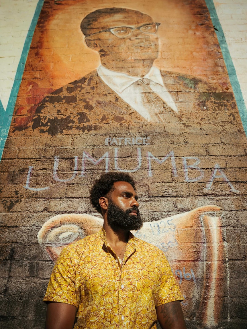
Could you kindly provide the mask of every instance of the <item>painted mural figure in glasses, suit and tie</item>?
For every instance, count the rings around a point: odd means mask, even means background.
[[[207,91],[208,86],[199,79],[153,66],[158,57],[159,25],[145,13],[124,8],[88,14],[81,30],[87,46],[98,52],[101,65],[45,97],[37,107],[33,130],[56,135],[99,130],[109,123],[143,126],[181,122],[183,110],[188,110],[183,94],[188,92],[189,110],[195,113],[199,92]]]

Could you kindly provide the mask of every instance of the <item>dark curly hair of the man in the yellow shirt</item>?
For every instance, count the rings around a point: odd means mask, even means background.
[[[135,190],[135,181],[126,172],[110,171],[102,174],[99,179],[96,179],[92,189],[90,190],[90,202],[99,213],[101,213],[99,198],[101,196],[106,196],[110,190],[113,190],[113,184],[115,182],[127,182],[132,185]]]

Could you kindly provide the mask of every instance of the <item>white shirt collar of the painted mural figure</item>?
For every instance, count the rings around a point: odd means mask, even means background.
[[[160,70],[155,66],[152,66],[150,71],[144,77],[133,77],[123,72],[112,71],[103,65],[98,67],[97,73],[107,86],[120,93],[132,85],[132,83],[142,78],[148,78],[154,83],[164,86]]]

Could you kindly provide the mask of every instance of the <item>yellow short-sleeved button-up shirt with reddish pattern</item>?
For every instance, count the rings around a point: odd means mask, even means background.
[[[62,250],[44,297],[76,306],[74,329],[156,328],[155,307],[182,299],[160,249],[130,233],[121,267],[103,228]]]

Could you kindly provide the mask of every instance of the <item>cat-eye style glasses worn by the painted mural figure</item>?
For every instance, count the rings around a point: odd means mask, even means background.
[[[131,36],[134,30],[139,30],[143,34],[155,34],[159,26],[160,23],[151,23],[151,24],[144,24],[138,27],[129,27],[129,26],[112,27],[111,29],[106,29],[96,33],[92,33],[90,34],[90,36],[102,32],[111,32],[114,36],[118,38],[128,38],[129,36]]]

